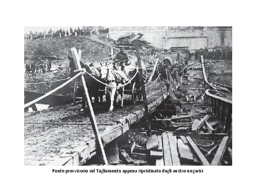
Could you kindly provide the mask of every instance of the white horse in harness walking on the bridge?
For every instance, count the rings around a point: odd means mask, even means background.
[[[123,73],[123,71],[114,71],[108,66],[101,66],[101,79],[107,82],[108,85],[113,87],[106,87],[106,101],[110,101],[110,109],[109,111],[113,111],[113,102],[116,102],[118,92],[121,95],[121,107],[123,107],[123,93],[124,93],[124,86],[121,87],[122,82],[127,81],[127,76]],[[116,77],[120,76],[120,79],[118,80]],[[120,82],[122,81],[122,82]]]

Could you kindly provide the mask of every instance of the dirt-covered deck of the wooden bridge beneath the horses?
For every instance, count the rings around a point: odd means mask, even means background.
[[[162,86],[165,87],[163,82]],[[151,112],[153,112],[154,103],[159,105],[162,101],[160,82],[147,84],[146,92],[148,104],[151,103],[149,109],[152,108]],[[138,112],[139,116],[143,116],[143,102],[132,105],[130,97],[130,95],[125,95],[124,108],[116,108],[113,112],[108,112],[104,105],[94,107],[98,128],[101,135],[105,135],[102,138],[104,145],[128,130],[128,126],[119,129],[118,119],[134,112],[137,113],[137,120],[139,119]],[[81,113],[80,108],[81,105],[67,105],[25,114],[25,165],[47,165],[67,153],[72,153],[79,146],[88,145],[90,141],[94,142],[89,110]],[[114,133],[113,130],[118,134],[109,134]],[[90,153],[95,150],[95,143],[94,147],[89,150]]]

